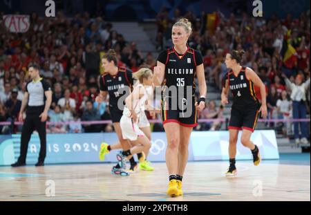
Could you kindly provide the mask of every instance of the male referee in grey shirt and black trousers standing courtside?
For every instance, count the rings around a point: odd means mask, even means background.
[[[23,122],[21,131],[21,154],[17,162],[11,165],[12,167],[26,165],[28,143],[34,130],[38,131],[40,138],[39,159],[35,166],[44,166],[44,159],[46,158],[46,119],[52,102],[52,90],[50,85],[40,77],[39,66],[30,64],[28,66],[28,75],[31,81],[26,85],[26,92],[19,111],[19,122],[22,122],[23,111],[27,106],[26,119]]]

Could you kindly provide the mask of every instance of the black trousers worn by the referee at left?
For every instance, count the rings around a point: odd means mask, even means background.
[[[28,144],[33,131],[37,130],[40,139],[39,162],[44,162],[46,158],[46,122],[41,122],[39,115],[44,111],[44,106],[35,107],[27,110],[27,116],[23,122],[23,129],[21,130],[21,154],[19,162],[26,162],[28,151]]]

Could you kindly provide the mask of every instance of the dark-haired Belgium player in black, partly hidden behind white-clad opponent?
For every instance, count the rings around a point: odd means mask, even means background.
[[[117,138],[122,145],[122,149],[128,150],[131,148],[131,145],[128,140],[122,138],[120,127],[124,104],[118,106],[118,100],[124,94],[120,94],[118,90],[126,86],[129,88],[133,86],[132,72],[128,68],[117,66],[117,55],[115,50],[112,49],[102,57],[102,66],[104,67],[105,75],[101,76],[100,95],[96,97],[96,102],[103,102],[106,100],[106,96],[109,95],[109,110],[115,133],[117,133]],[[123,168],[124,165],[122,162],[118,162],[111,172],[113,174],[119,174],[120,176],[129,176],[129,173],[124,171]]]

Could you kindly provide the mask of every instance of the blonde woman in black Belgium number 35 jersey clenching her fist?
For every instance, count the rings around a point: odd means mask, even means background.
[[[207,86],[202,55],[187,46],[191,23],[180,19],[173,25],[173,47],[158,56],[153,82],[162,84],[162,122],[167,134],[166,162],[169,172],[169,196],[181,196],[182,177],[188,161],[191,131],[196,127],[198,113],[205,107]],[[198,77],[200,99],[195,102],[194,77]],[[177,103],[177,104],[176,104]]]

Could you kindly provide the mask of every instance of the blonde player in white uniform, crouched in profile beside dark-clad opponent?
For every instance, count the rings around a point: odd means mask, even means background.
[[[117,154],[118,160],[123,163],[127,157],[142,151],[149,151],[151,147],[150,140],[138,127],[138,120],[144,115],[145,108],[148,111],[154,111],[145,89],[147,86],[152,86],[153,74],[149,68],[140,68],[139,71],[133,73],[133,77],[135,80],[139,80],[139,84],[136,84],[131,95],[126,97],[120,126],[123,138],[131,141],[134,147]]]

